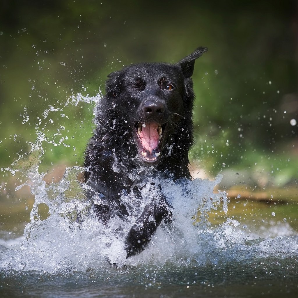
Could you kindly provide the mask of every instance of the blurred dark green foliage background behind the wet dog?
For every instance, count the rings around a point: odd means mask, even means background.
[[[104,92],[124,65],[176,62],[207,46],[193,75],[191,161],[297,184],[297,26],[296,1],[4,0],[0,167],[43,136],[42,170],[82,164],[94,103],[71,96]]]

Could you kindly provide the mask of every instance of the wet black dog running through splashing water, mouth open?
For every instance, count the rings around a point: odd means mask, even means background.
[[[123,192],[139,195],[150,176],[190,179],[188,151],[193,144],[191,76],[199,47],[176,64],[140,63],[108,75],[106,95],[96,108],[94,136],[85,152],[87,197],[103,224],[125,219]],[[136,219],[125,243],[127,257],[145,249],[171,211],[160,187]]]

